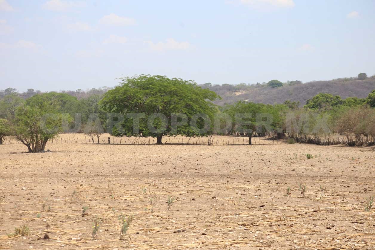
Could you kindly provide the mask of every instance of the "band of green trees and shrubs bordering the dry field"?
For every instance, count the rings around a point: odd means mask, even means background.
[[[216,100],[220,100],[217,93],[194,81],[161,75],[120,78],[113,89],[80,99],[57,92],[24,99],[11,91],[0,100],[0,143],[13,136],[28,152],[40,152],[64,131],[86,133],[93,142],[97,137],[98,143],[104,132],[120,137],[150,136],[157,144],[163,136],[176,135],[207,136],[210,144],[213,134],[246,136],[249,144],[253,136],[288,137],[291,143],[319,145],[375,142],[375,90],[366,98],[320,93],[304,107],[293,101],[273,105],[238,101],[218,106],[213,103]],[[344,139],[336,139],[336,135]]]

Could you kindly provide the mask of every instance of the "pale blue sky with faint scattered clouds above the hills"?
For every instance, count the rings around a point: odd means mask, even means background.
[[[0,0],[0,89],[375,74],[374,0]]]

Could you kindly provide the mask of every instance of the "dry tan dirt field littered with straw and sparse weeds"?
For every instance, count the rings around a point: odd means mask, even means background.
[[[75,136],[46,153],[0,145],[1,249],[375,249],[375,208],[365,211],[374,148],[233,137],[93,145]],[[133,215],[123,240],[121,214]],[[28,235],[8,236],[24,225]]]

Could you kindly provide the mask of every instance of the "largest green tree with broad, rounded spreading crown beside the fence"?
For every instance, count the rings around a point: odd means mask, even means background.
[[[161,75],[136,75],[120,79],[120,85],[105,93],[101,101],[107,113],[124,116],[123,120],[109,117],[107,132],[110,134],[151,136],[161,144],[164,135],[204,136],[210,133],[212,122],[208,124],[207,119],[213,120],[216,112],[211,101],[220,98],[213,91],[202,89],[191,80],[169,79]],[[180,115],[174,115],[177,113]],[[207,118],[206,122],[202,117]],[[117,123],[121,127],[111,127],[112,119],[119,119]],[[139,126],[133,126],[137,120]],[[192,126],[187,120],[193,123]]]

